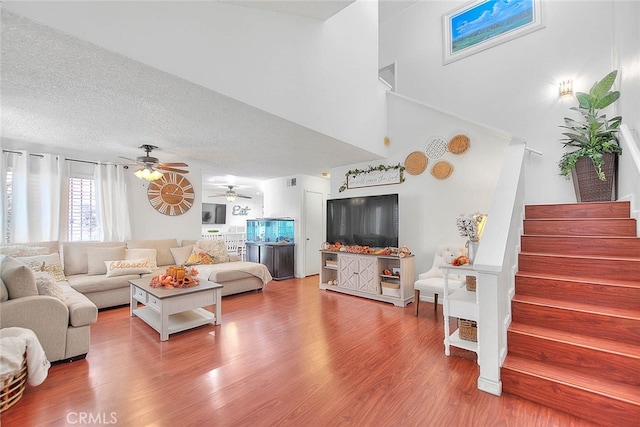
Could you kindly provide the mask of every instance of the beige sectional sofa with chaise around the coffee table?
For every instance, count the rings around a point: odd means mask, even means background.
[[[89,351],[90,325],[96,322],[98,309],[129,304],[129,280],[151,279],[169,265],[184,264],[195,242],[184,241],[183,246],[176,239],[37,242],[30,246],[49,255],[0,255],[0,327],[33,330],[51,362],[82,358]],[[144,271],[107,271],[109,261],[130,261],[122,263],[126,267],[141,259]],[[33,269],[40,265],[57,268],[56,283],[63,295],[38,294]],[[271,281],[264,265],[240,261],[235,255],[228,255],[227,262],[197,269],[201,279],[223,285],[223,296],[261,290]]]

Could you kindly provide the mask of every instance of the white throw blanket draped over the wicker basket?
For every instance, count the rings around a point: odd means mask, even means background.
[[[38,337],[31,329],[0,329],[0,379],[20,370],[27,351],[27,383],[38,386],[47,378],[51,363],[47,360]]]

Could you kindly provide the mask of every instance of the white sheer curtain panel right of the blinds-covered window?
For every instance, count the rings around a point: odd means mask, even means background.
[[[123,167],[98,163],[94,180],[100,240],[121,242],[131,239],[127,184]]]

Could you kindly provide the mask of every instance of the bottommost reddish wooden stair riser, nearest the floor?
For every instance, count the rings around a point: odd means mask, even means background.
[[[551,408],[582,417],[590,422],[611,426],[637,425],[640,405],[587,390],[502,369],[502,390]]]

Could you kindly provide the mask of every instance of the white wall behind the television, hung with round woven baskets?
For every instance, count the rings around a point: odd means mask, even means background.
[[[404,165],[407,155],[425,150],[434,136],[449,141],[457,134],[464,134],[471,140],[467,152],[443,155],[441,159],[454,167],[453,174],[444,180],[431,175],[434,161],[429,160],[427,170],[422,174],[405,172],[402,184],[339,192],[348,170],[367,169],[378,164],[350,165],[331,171],[329,198],[399,194],[399,244],[408,246],[415,254],[418,274],[431,267],[438,245],[466,241],[459,236],[456,227],[459,215],[489,211],[511,136],[392,94],[387,100],[391,143],[389,157],[382,164]]]

